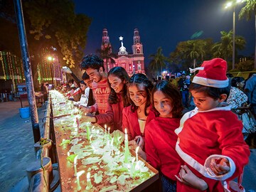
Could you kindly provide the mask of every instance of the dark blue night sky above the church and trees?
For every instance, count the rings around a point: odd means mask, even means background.
[[[148,0],[148,1],[83,1],[75,0],[75,12],[92,18],[87,33],[85,54],[95,53],[102,43],[102,29],[107,28],[112,50],[117,53],[124,37],[124,47],[132,52],[134,28],[139,29],[146,64],[149,55],[163,48],[166,57],[174,51],[180,41],[188,41],[197,31],[200,38],[220,41],[220,31],[233,29],[233,9],[224,9],[224,0]],[[238,20],[241,5],[236,6],[235,35],[247,41],[240,54],[250,56],[255,48],[255,20]]]

